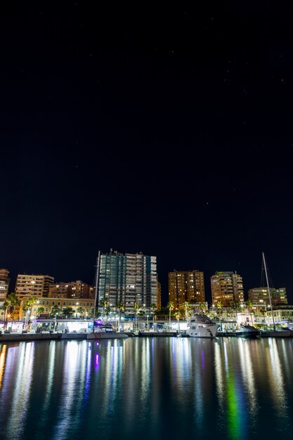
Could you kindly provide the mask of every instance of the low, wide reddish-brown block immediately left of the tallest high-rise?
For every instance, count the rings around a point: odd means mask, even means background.
[[[93,287],[82,281],[51,284],[48,291],[50,298],[93,298]]]

